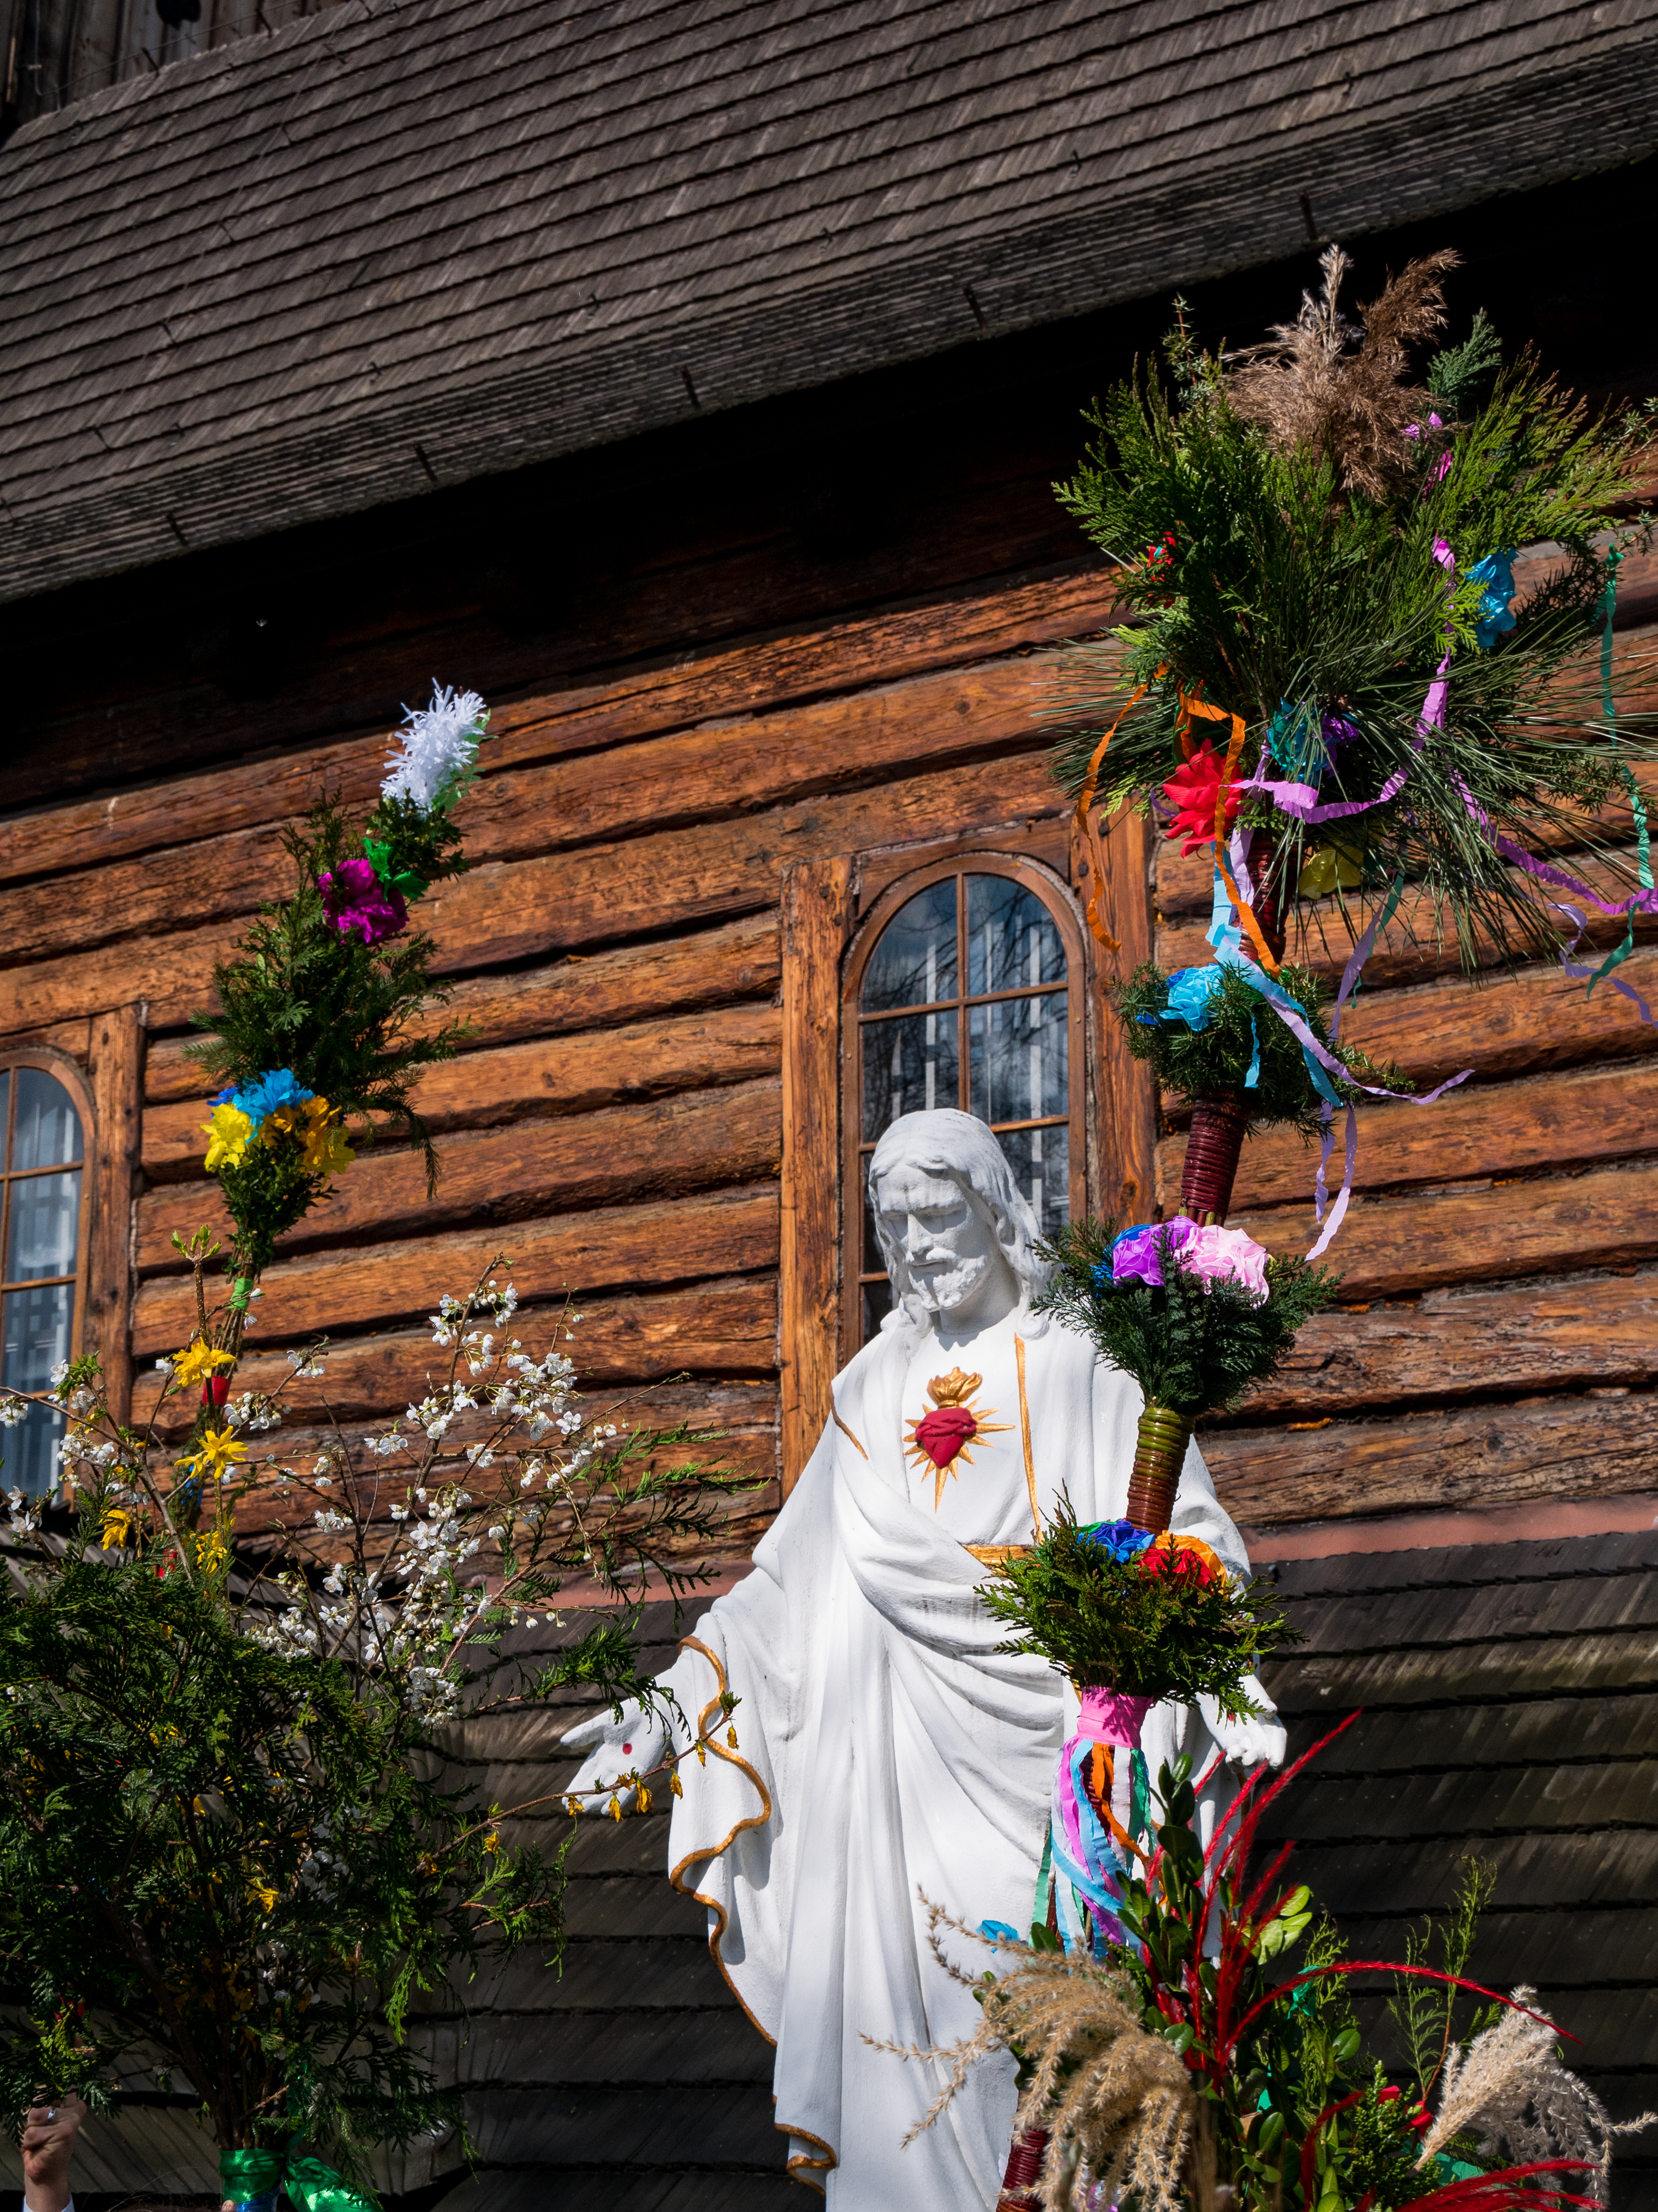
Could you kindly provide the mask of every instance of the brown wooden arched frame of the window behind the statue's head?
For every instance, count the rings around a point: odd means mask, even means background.
[[[926,891],[935,883],[962,876],[1001,876],[1017,883],[1021,889],[1030,891],[1043,911],[1054,922],[1059,940],[1066,949],[1066,982],[1061,987],[1043,987],[1043,995],[1066,993],[1066,1128],[1070,1137],[1070,1219],[1081,1221],[1088,1214],[1088,1150],[1090,1150],[1090,1128],[1088,1128],[1088,958],[1083,942],[1083,922],[1077,911],[1077,900],[1070,885],[1043,860],[1035,860],[1026,854],[1010,854],[984,847],[957,849],[933,860],[922,863],[895,876],[882,887],[882,891],[871,900],[869,911],[860,918],[851,945],[847,947],[847,960],[842,967],[840,984],[840,1343],[844,1358],[851,1358],[862,1343],[862,1292],[864,1292],[864,1155],[871,1150],[864,1144],[862,1133],[862,1033],[867,1020],[886,1020],[889,1013],[873,1013],[864,1018],[860,998],[864,989],[864,973],[880,945],[880,938],[900,907],[909,905],[920,891]],[[962,894],[957,894],[957,931],[962,925]],[[968,1048],[968,1011],[977,1004],[995,1004],[997,1000],[1030,998],[1030,991],[979,991],[968,993],[966,971],[959,973],[962,984],[959,995],[951,1000],[940,1000],[940,1004],[955,1004],[959,1009],[962,1037],[959,1037],[959,1082],[970,1082],[970,1048]],[[951,1102],[959,1106],[957,1099]],[[966,1110],[966,1108],[962,1108]],[[1057,1119],[1057,1117],[1054,1117]],[[986,1124],[988,1126],[988,1124]],[[1010,1124],[1017,1126],[1017,1124]],[[1048,1124],[1052,1126],[1052,1124]],[[873,1276],[871,1276],[873,1281]]]

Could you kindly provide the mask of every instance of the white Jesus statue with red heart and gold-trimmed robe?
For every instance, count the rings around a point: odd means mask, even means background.
[[[681,1763],[668,1860],[670,1880],[707,1905],[714,1958],[776,2044],[789,2170],[840,2212],[968,2212],[997,2201],[1012,2062],[982,2066],[902,2148],[944,2070],[873,2044],[973,2035],[979,2011],[933,1958],[922,1898],[968,1927],[1030,1924],[1054,1763],[1077,1717],[1046,1661],[997,1650],[1008,1632],[975,1595],[988,1575],[975,1548],[1030,1544],[1061,1491],[1079,1520],[1119,1520],[1141,1394],[1032,1312],[1046,1276],[1037,1219],[984,1121],[904,1115],[875,1146],[869,1188],[893,1310],[836,1376],[822,1440],[754,1571],[714,1599],[663,1677],[692,1725],[718,1719],[721,1690],[741,1701],[738,1750],[721,1728],[705,1763]],[[948,1407],[962,1411],[928,1427],[926,1449],[917,1425]],[[966,1436],[955,1453],[951,1431]],[[1174,1528],[1247,1577],[1196,1447]],[[1258,1683],[1251,1694],[1267,1705]],[[573,1790],[646,1774],[668,1734],[639,1708],[570,1730],[566,1743],[590,1752]],[[690,1741],[679,1723],[672,1734]],[[1284,1750],[1271,1708],[1238,1723],[1158,1705],[1143,1741],[1152,1778],[1180,1750],[1194,1774],[1216,1750],[1231,1767]],[[1220,1765],[1198,1807],[1205,1832],[1234,1792]]]

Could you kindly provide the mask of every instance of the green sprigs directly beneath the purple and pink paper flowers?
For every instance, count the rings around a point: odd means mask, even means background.
[[[1205,1283],[1183,1270],[1169,1230],[1161,1232],[1161,1285],[1114,1281],[1114,1221],[1057,1230],[1043,1245],[1054,1272],[1035,1303],[1081,1329],[1108,1367],[1138,1383],[1147,1402],[1200,1420],[1278,1371],[1302,1323],[1335,1298],[1340,1276],[1302,1259],[1267,1259],[1267,1296],[1258,1298],[1238,1283]]]

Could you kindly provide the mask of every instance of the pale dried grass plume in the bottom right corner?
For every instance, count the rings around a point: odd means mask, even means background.
[[[1594,2168],[1596,2203],[1607,2201],[1612,2139],[1649,2128],[1658,2112],[1612,2121],[1607,2108],[1561,2066],[1559,2028],[1536,2015],[1536,1991],[1517,1989],[1514,2004],[1530,2011],[1503,2017],[1466,2051],[1455,2044],[1439,2075],[1439,2117],[1421,2139],[1419,2166],[1455,2137],[1472,2135],[1483,2154],[1505,2154],[1514,2166],[1543,2159],[1583,2159]]]

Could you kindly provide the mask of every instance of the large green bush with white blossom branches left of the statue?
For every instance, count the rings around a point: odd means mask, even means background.
[[[201,1332],[144,1429],[93,1356],[51,1394],[69,1524],[11,1493],[0,2079],[11,2110],[35,2081],[155,2081],[221,2150],[305,2137],[360,2172],[367,2146],[458,2124],[405,2039],[418,2000],[484,1953],[562,1949],[564,1854],[513,1823],[564,1801],[484,1796],[455,1723],[568,1690],[661,1712],[646,1593],[703,1582],[754,1484],[685,1425],[595,1418],[562,1349],[577,1316],[533,1349],[504,1261],[440,1301],[407,1416],[351,1433],[325,1398],[296,1409],[325,1345],[199,1416],[203,1380],[234,1376],[212,1259],[192,1239]],[[703,1750],[736,1703],[674,1714],[679,1741]],[[652,1778],[630,1778],[641,1809]]]

